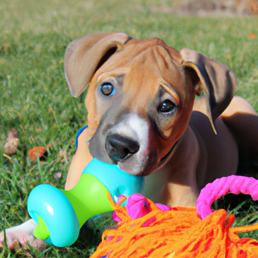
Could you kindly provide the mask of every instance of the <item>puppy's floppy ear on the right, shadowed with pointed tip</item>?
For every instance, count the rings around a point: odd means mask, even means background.
[[[229,68],[201,53],[183,48],[180,54],[182,67],[192,78],[197,94],[204,91],[207,114],[216,134],[214,121],[232,100],[237,84],[236,77]]]

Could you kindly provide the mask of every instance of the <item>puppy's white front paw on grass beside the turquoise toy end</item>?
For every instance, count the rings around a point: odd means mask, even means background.
[[[6,243],[10,250],[15,248],[29,248],[28,244],[37,249],[46,249],[48,244],[43,240],[37,239],[33,235],[33,230],[36,223],[33,220],[28,220],[23,224],[6,229]],[[0,233],[0,247],[5,245],[4,231]]]

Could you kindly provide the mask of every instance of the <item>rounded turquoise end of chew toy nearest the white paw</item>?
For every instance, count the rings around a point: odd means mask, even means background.
[[[50,236],[44,241],[49,245],[72,245],[79,236],[80,226],[68,198],[49,184],[38,185],[32,191],[28,198],[28,211],[36,223],[39,216],[47,225]]]

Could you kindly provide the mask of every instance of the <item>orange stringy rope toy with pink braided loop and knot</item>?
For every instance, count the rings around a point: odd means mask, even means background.
[[[106,230],[90,258],[257,258],[258,241],[237,233],[258,230],[258,224],[231,228],[234,216],[211,204],[226,193],[258,199],[258,180],[229,176],[215,180],[201,191],[197,209],[155,204],[138,193],[119,196],[115,210],[117,229]],[[127,204],[121,204],[127,199]]]

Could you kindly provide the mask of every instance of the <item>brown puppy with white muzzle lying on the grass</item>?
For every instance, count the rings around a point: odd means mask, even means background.
[[[96,157],[146,176],[144,195],[153,201],[195,206],[206,183],[258,161],[257,113],[233,98],[233,72],[200,53],[178,52],[158,38],[100,33],[70,43],[64,68],[73,96],[89,85],[89,128],[66,189]],[[30,220],[7,230],[8,244],[32,243],[34,227]]]

